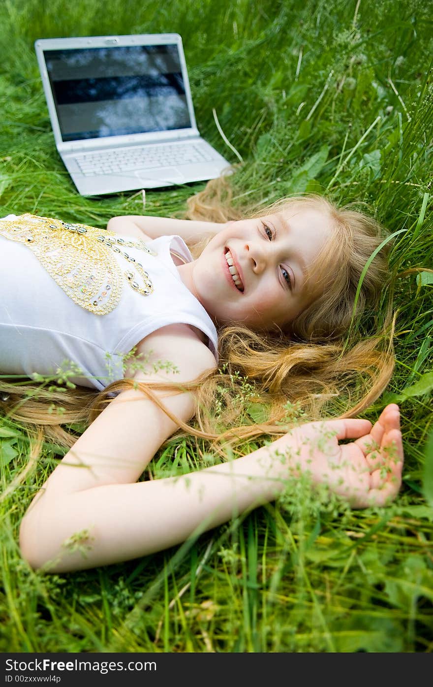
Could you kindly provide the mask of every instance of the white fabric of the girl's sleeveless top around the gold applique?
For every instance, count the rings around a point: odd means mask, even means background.
[[[58,368],[71,370],[73,361],[80,371],[70,381],[103,390],[123,379],[123,357],[141,339],[180,323],[201,330],[218,359],[215,326],[183,284],[170,254],[191,262],[187,245],[180,236],[160,236],[147,245],[156,256],[137,248],[128,248],[128,254],[148,272],[153,292],[137,293],[125,279],[114,310],[95,315],[71,300],[27,246],[0,235],[0,374],[53,375]],[[114,255],[123,273],[128,265]]]

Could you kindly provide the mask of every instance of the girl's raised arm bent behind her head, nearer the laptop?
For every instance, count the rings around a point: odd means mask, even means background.
[[[170,217],[152,217],[145,215],[125,215],[113,217],[108,221],[107,229],[115,234],[137,236],[137,238],[158,238],[176,234],[185,243],[195,243],[206,236],[214,236],[221,231],[224,223],[198,222]]]

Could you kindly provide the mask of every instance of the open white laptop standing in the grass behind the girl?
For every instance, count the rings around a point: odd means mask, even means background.
[[[83,196],[214,179],[178,34],[35,43],[56,146]]]

